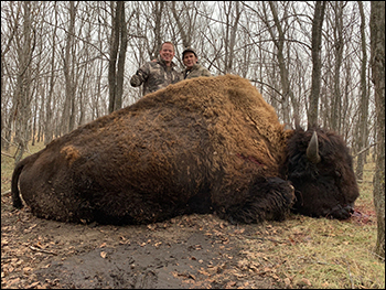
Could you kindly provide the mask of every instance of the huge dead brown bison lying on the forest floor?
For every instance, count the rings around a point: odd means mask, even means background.
[[[285,130],[257,89],[232,75],[149,94],[25,158],[12,176],[20,208],[18,183],[39,217],[111,224],[210,212],[256,223],[291,208],[347,218],[358,196],[341,137]]]

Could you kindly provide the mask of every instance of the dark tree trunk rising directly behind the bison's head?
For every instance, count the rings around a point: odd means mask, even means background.
[[[319,94],[321,85],[321,50],[322,50],[322,25],[324,18],[325,2],[317,1],[312,21],[312,85],[310,95],[310,107],[308,110],[308,127],[318,125]]]

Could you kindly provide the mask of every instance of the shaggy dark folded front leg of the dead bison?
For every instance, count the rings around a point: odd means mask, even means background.
[[[218,215],[232,224],[282,221],[294,202],[294,189],[288,181],[271,178],[255,181],[242,196],[244,201],[222,207]]]

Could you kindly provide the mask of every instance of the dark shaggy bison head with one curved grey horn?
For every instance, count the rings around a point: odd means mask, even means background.
[[[353,212],[358,187],[352,157],[332,131],[294,130],[288,142],[288,180],[296,187],[293,212],[345,219]]]

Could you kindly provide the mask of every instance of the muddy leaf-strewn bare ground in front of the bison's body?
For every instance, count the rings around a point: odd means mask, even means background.
[[[14,211],[1,196],[1,288],[279,288],[248,256],[272,240],[269,225],[215,215],[142,226],[77,225]]]

